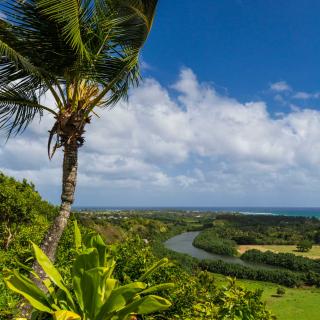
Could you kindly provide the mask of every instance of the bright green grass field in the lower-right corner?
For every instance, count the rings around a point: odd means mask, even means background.
[[[226,278],[215,274],[218,285],[226,284]],[[276,296],[276,284],[251,280],[237,280],[238,284],[249,289],[263,289],[263,300],[278,320],[316,320],[320,319],[320,289],[285,288],[282,297]]]

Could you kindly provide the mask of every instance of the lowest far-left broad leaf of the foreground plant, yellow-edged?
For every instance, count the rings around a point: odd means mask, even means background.
[[[26,276],[13,271],[5,279],[5,283],[9,289],[25,297],[35,309],[48,313],[52,312],[50,303],[44,292]]]

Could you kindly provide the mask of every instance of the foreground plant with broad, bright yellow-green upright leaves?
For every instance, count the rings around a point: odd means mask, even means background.
[[[16,270],[7,272],[7,286],[22,295],[34,308],[32,319],[127,320],[134,315],[170,307],[168,300],[151,293],[170,289],[173,284],[148,287],[144,282],[149,275],[165,265],[167,259],[153,265],[138,281],[120,285],[112,277],[115,261],[99,235],[90,234],[82,241],[75,223],[75,243],[77,256],[70,279],[72,289],[68,289],[59,271],[34,243],[35,258],[48,277],[42,280],[47,293],[22,273]],[[21,266],[40,281],[39,275],[32,269]]]

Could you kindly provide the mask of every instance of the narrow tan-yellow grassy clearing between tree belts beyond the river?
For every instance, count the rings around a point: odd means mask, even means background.
[[[243,245],[238,247],[238,251],[242,254],[250,249],[257,249],[262,252],[270,250],[281,253],[294,253],[298,256],[304,256],[310,259],[320,259],[320,246],[313,246],[309,252],[298,252],[295,245]]]

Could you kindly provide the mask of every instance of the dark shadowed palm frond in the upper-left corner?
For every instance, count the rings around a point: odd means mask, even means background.
[[[77,53],[66,43],[62,27],[41,13],[36,0],[7,0],[4,13],[7,21],[0,21],[0,40],[37,66],[41,77],[55,78],[56,82],[64,77],[67,68],[73,69]],[[30,75],[27,68],[8,56],[0,61],[0,68],[2,64],[9,68],[8,61],[14,62],[16,69],[23,71],[21,74]],[[11,81],[14,80],[19,79]]]

